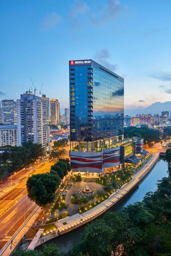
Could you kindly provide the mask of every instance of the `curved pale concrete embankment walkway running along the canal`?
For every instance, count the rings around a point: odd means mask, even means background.
[[[144,179],[144,177],[154,167],[154,165],[158,161],[158,158],[159,153],[153,154],[153,156],[145,163],[145,165],[142,166],[137,172],[133,174],[132,180],[124,184],[121,189],[118,189],[117,192],[114,192],[108,199],[106,199],[99,205],[82,214],[77,213],[65,220],[55,222],[54,224],[56,225],[57,229],[45,235],[41,235],[37,243],[31,243],[29,248],[34,249],[35,247],[47,242],[50,239],[65,234],[73,229],[76,229],[92,221],[93,219],[97,218],[98,216],[106,212],[110,207],[116,204],[121,198],[123,198],[127,193],[129,193],[135,186],[137,186]]]

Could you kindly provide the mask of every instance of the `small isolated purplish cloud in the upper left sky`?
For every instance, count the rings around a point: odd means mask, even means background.
[[[48,13],[42,20],[40,28],[42,31],[48,31],[56,27],[56,25],[61,21],[61,16],[56,12]]]

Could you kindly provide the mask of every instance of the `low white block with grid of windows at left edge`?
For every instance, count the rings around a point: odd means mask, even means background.
[[[18,146],[17,125],[0,125],[0,147]]]

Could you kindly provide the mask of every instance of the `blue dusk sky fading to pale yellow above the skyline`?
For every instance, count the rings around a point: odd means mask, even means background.
[[[171,101],[170,0],[0,0],[0,10],[0,100],[20,99],[31,77],[63,112],[68,61],[93,59],[124,77],[125,114]]]

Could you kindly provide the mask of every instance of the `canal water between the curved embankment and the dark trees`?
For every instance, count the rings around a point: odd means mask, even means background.
[[[142,180],[142,182],[132,189],[124,198],[112,206],[109,210],[118,212],[123,209],[123,207],[127,206],[128,204],[133,204],[137,201],[142,201],[145,194],[149,191],[154,192],[157,188],[157,180],[161,180],[163,177],[167,177],[167,164],[164,160],[160,159],[150,173]],[[105,214],[105,213],[104,213]],[[103,214],[99,217],[102,218]],[[76,228],[75,230],[68,232],[62,236],[56,237],[50,241],[47,241],[46,244],[54,243],[59,247],[61,252],[67,252],[73,248],[74,245],[81,241],[81,233],[84,231],[84,228],[87,224]],[[37,247],[36,249],[39,250],[42,248],[42,245]]]

